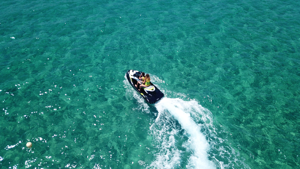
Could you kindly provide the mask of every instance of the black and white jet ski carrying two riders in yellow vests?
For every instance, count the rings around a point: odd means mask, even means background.
[[[126,73],[127,80],[131,84],[131,86],[139,92],[142,97],[150,104],[153,104],[161,98],[164,97],[164,93],[162,93],[156,86],[154,86],[153,83],[150,82],[150,86],[146,88],[142,88],[141,91],[138,90],[138,88],[135,86],[139,80],[139,77],[141,75],[141,71],[135,71],[135,70],[129,70]]]

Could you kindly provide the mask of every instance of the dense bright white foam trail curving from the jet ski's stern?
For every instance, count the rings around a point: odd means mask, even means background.
[[[194,169],[216,168],[213,162],[208,160],[207,151],[210,149],[210,146],[205,139],[204,134],[200,132],[201,126],[197,125],[191,117],[191,115],[193,116],[195,113],[205,113],[201,110],[202,106],[196,101],[183,101],[179,98],[163,98],[155,104],[155,107],[159,113],[155,123],[161,123],[156,124],[160,126],[158,127],[160,129],[152,127],[150,129],[153,131],[154,135],[156,135],[157,139],[161,140],[161,146],[159,147],[161,152],[156,155],[156,160],[152,162],[150,167],[173,168],[176,164],[179,165],[180,163],[179,160],[182,151],[176,149],[176,140],[174,139],[174,134],[176,134],[178,129],[176,130],[176,127],[170,127],[173,122],[167,122],[168,119],[170,119],[167,116],[164,115],[165,120],[160,119],[162,114],[170,113],[170,115],[180,123],[189,137],[186,145],[183,146],[187,146],[193,153],[190,155],[186,167]],[[163,124],[166,122],[168,123],[167,125]],[[164,132],[168,133],[163,134]]]

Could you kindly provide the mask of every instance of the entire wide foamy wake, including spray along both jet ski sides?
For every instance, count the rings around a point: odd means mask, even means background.
[[[155,159],[146,169],[250,169],[239,150],[232,147],[229,131],[213,123],[208,109],[189,95],[165,90],[167,84],[163,80],[151,77],[165,98],[155,104],[158,116],[149,133],[156,148],[153,151]],[[134,110],[150,113],[149,104],[131,87],[126,76],[123,82],[127,100],[136,101],[138,105]]]

